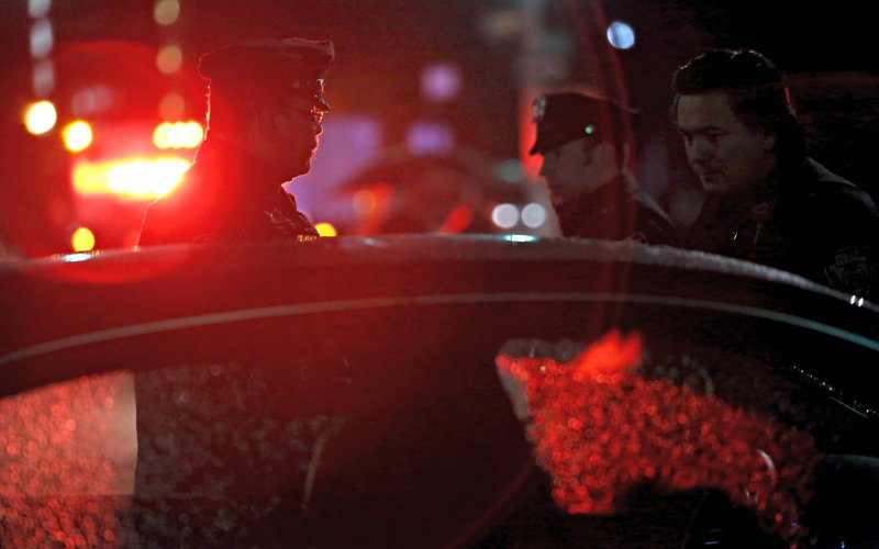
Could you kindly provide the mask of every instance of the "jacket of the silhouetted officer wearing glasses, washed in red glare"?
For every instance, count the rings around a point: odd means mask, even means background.
[[[260,181],[260,163],[232,145],[202,146],[185,177],[176,192],[147,209],[141,246],[318,238],[281,183]]]

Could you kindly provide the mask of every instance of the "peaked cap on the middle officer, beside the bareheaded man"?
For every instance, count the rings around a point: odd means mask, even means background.
[[[534,101],[532,120],[537,138],[528,154],[544,154],[587,136],[622,141],[630,117],[637,114],[608,99],[575,92],[544,93]]]

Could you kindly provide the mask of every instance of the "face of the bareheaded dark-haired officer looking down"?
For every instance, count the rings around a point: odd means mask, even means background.
[[[680,96],[677,127],[687,159],[709,193],[756,184],[778,163],[776,136],[746,126],[722,91]]]

